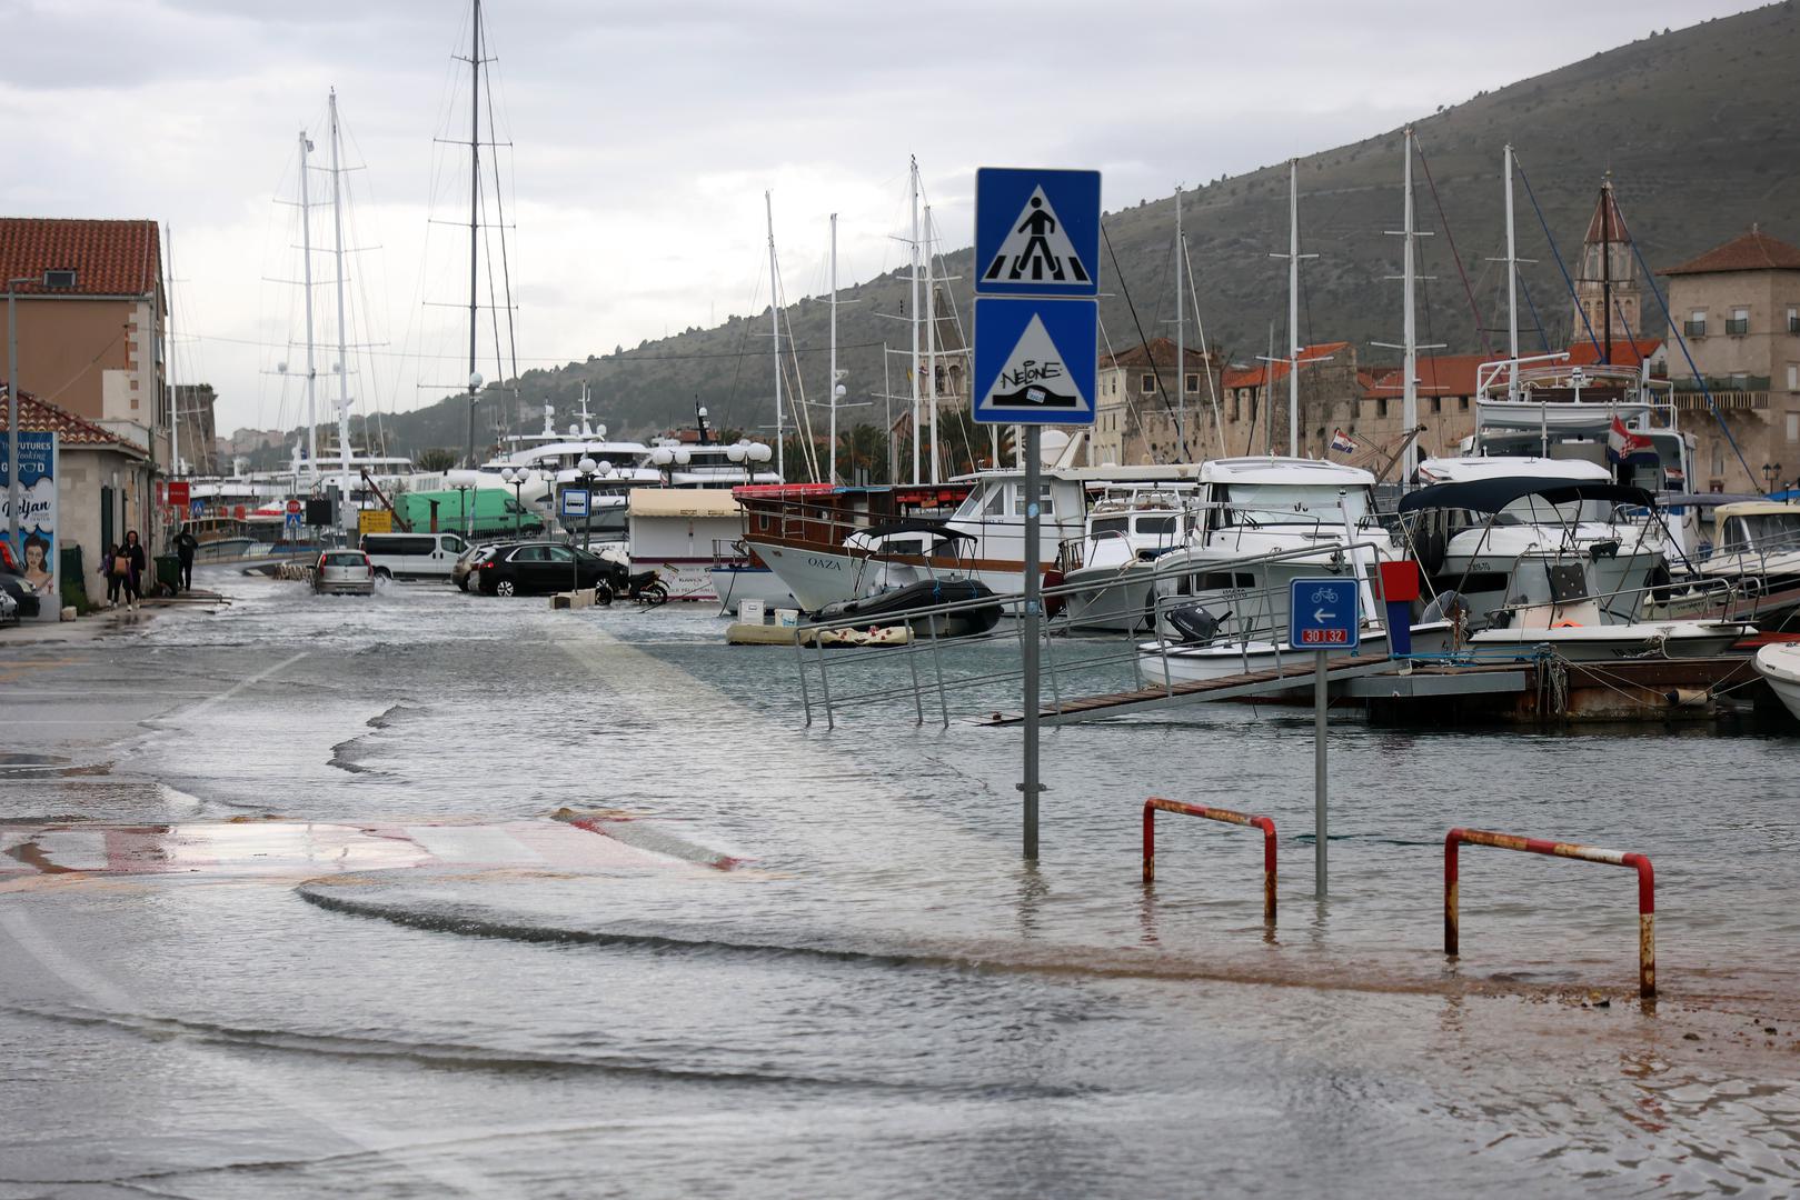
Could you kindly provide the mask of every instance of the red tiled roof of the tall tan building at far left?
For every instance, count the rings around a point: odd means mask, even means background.
[[[76,286],[45,288],[43,273],[74,270]],[[148,295],[162,277],[162,241],[157,223],[76,221],[61,218],[0,218],[0,286],[7,279],[20,295]]]

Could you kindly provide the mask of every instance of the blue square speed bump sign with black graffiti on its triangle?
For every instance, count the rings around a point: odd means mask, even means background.
[[[976,421],[1093,425],[1096,304],[977,295]]]

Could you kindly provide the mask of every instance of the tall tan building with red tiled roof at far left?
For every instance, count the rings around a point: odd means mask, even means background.
[[[0,378],[167,459],[167,300],[155,221],[0,218],[18,365]]]

